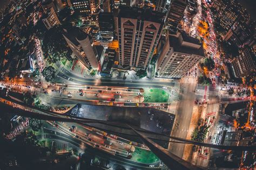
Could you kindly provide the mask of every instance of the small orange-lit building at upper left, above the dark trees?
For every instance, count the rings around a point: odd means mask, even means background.
[[[48,9],[48,12],[46,13],[46,18],[42,19],[46,29],[50,30],[52,26],[59,25],[59,19],[56,15],[56,12],[51,7]]]

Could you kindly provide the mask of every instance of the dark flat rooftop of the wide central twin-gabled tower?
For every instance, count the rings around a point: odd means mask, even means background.
[[[165,13],[137,7],[120,6],[118,17],[147,20],[153,23],[164,23]]]

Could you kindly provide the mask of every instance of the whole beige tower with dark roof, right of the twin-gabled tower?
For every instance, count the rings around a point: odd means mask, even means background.
[[[159,77],[180,79],[204,58],[204,48],[198,39],[185,32],[170,34],[157,60]]]

